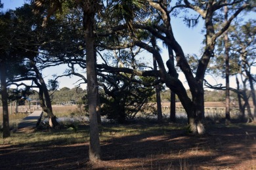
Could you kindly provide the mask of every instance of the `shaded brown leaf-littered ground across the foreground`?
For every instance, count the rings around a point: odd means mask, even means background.
[[[0,169],[256,169],[256,129],[219,124],[203,136],[171,130],[113,137],[102,141],[98,163],[88,161],[88,150],[88,143],[2,145]]]

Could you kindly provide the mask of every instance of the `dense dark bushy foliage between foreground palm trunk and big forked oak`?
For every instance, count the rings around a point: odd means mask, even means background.
[[[152,100],[152,95],[155,93],[154,88],[145,87],[138,82],[133,82],[132,79],[129,81],[119,78],[119,83],[115,88],[112,87],[111,93],[101,95],[101,114],[103,116],[124,123],[126,120],[135,119],[139,112],[145,114],[150,108],[153,108],[146,103]],[[150,81],[148,78],[137,78],[142,82]]]

